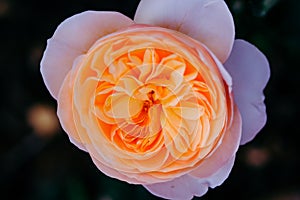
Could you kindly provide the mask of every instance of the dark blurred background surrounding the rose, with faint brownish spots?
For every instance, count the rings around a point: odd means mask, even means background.
[[[240,148],[225,183],[201,199],[300,199],[300,1],[228,0],[237,38],[268,57],[268,122]],[[109,178],[72,145],[56,118],[39,62],[67,17],[114,10],[131,18],[139,0],[0,0],[0,199],[159,199]],[[196,199],[196,198],[195,198]]]

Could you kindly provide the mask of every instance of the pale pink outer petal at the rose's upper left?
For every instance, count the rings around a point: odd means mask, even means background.
[[[99,38],[134,22],[118,12],[86,11],[63,21],[48,40],[41,73],[50,94],[56,99],[61,84],[75,58]]]

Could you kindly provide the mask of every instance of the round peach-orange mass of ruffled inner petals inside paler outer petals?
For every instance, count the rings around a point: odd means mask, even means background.
[[[232,118],[210,53],[175,31],[111,34],[74,71],[72,108],[82,135],[75,139],[97,162],[131,178],[165,181],[191,171],[218,147]]]

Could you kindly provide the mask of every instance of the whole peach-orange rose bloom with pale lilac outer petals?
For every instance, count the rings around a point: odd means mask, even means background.
[[[99,170],[191,199],[228,177],[266,122],[268,62],[234,34],[223,0],[141,0],[134,20],[65,20],[41,72],[70,141]]]

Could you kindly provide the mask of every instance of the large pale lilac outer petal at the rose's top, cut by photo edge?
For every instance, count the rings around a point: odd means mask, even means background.
[[[234,22],[223,0],[141,0],[134,21],[185,33],[224,63],[234,41]]]

